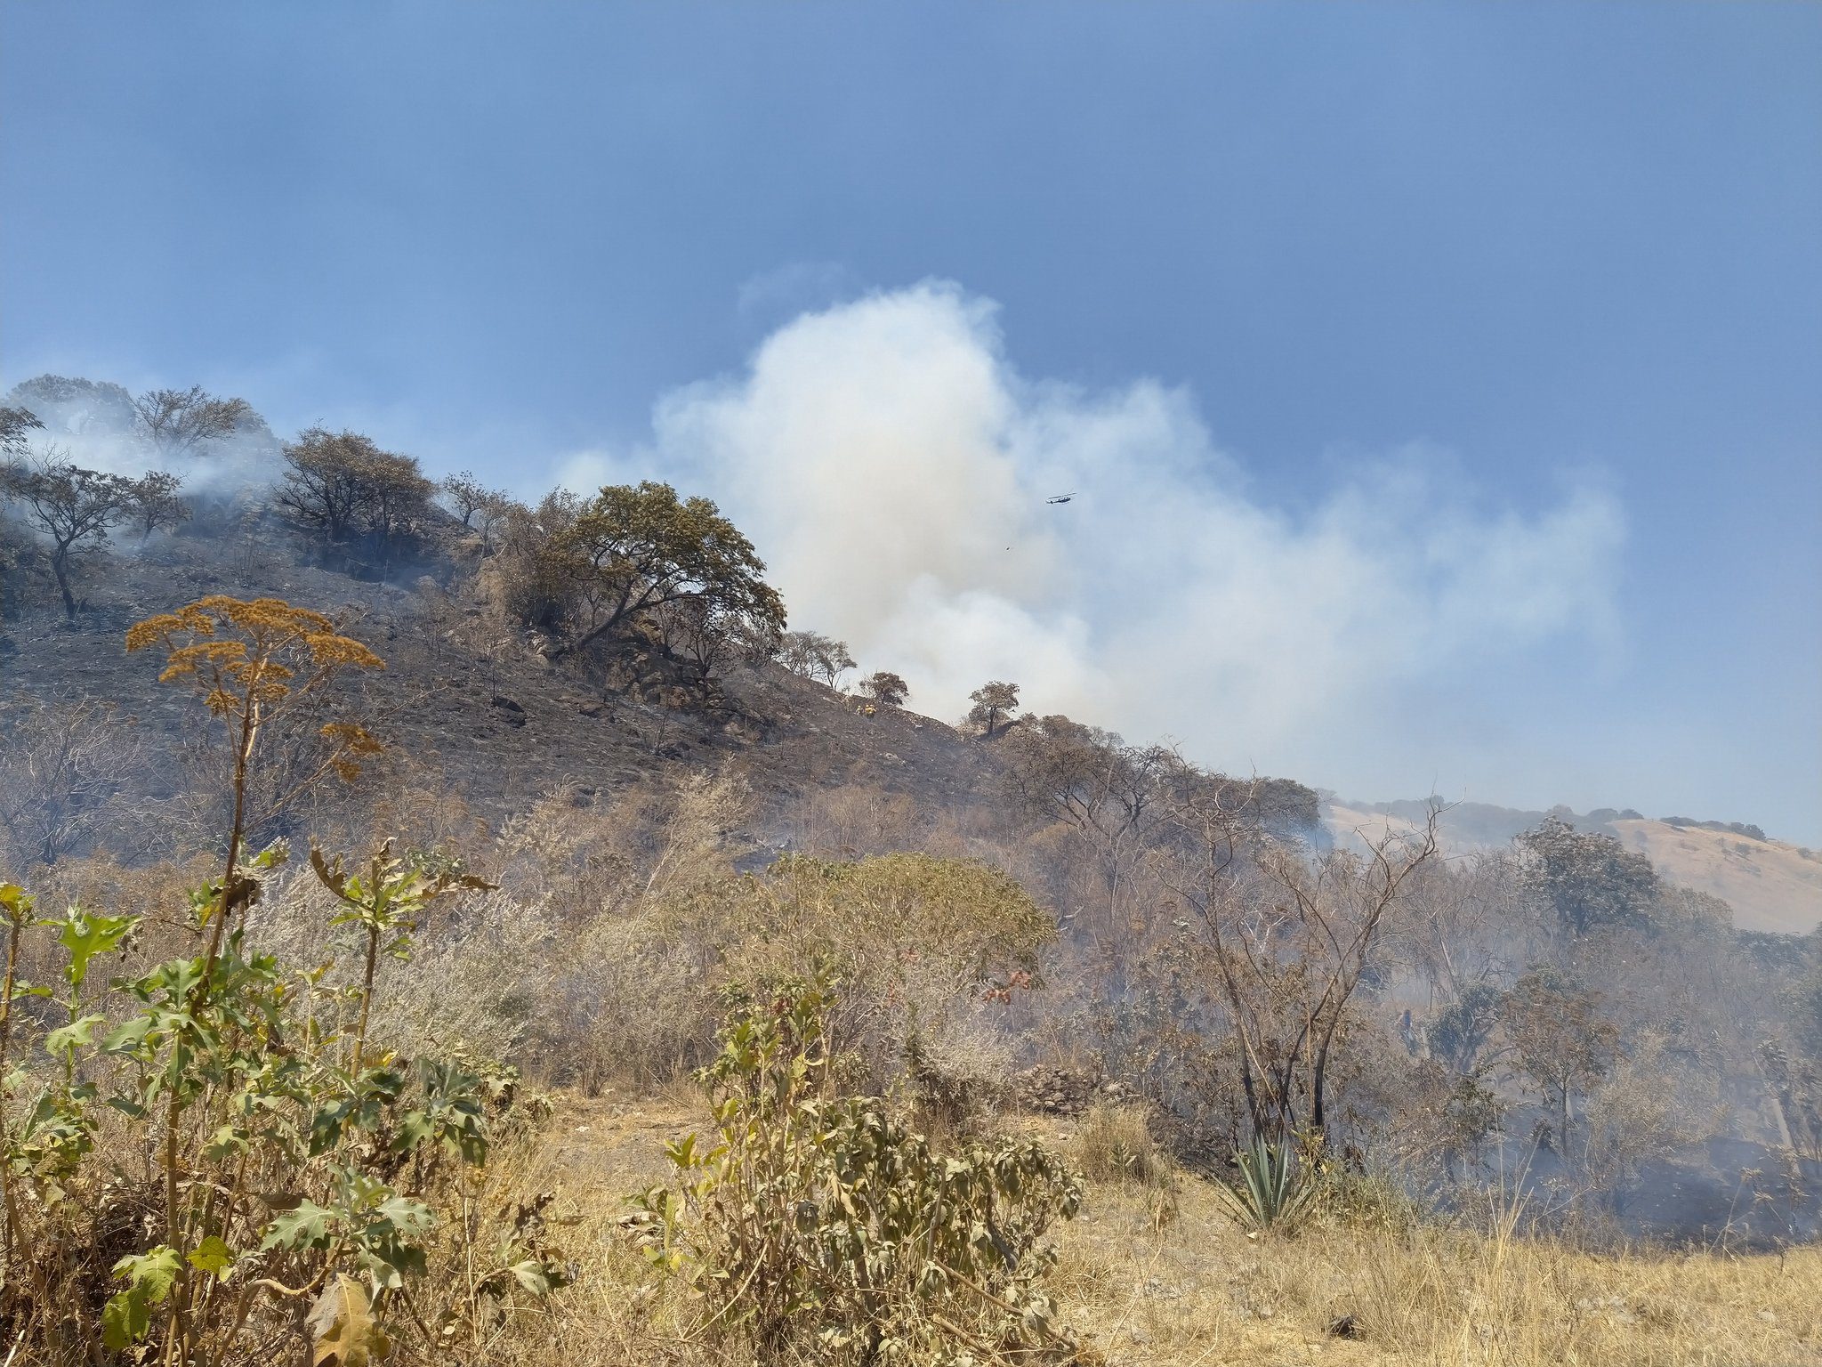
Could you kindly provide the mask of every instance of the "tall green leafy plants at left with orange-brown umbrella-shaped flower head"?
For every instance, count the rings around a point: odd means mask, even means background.
[[[474,1270],[470,1301],[563,1285],[534,1218],[481,1247],[476,1174],[512,1101],[510,1070],[397,1057],[370,1035],[379,961],[410,955],[430,902],[488,884],[390,844],[359,873],[313,849],[335,899],[326,930],[353,940],[355,964],[293,970],[248,939],[246,910],[288,857],[282,844],[242,857],[259,736],[337,671],[377,658],[279,600],[206,598],[128,643],[162,643],[164,678],[193,684],[224,724],[233,822],[222,875],[189,893],[193,951],[100,992],[98,966],[138,919],[82,906],[46,919],[0,886],[0,1321],[26,1360],[270,1362],[295,1356],[302,1332],[315,1363],[357,1367],[384,1356],[401,1314],[448,1349],[412,1296],[439,1236]],[[353,778],[377,749],[346,722],[322,727],[322,742],[306,776]],[[18,979],[27,937],[62,964],[55,992]],[[58,1023],[36,1057],[15,1061],[15,1002],[27,995]],[[499,1274],[488,1252],[505,1259]]]

